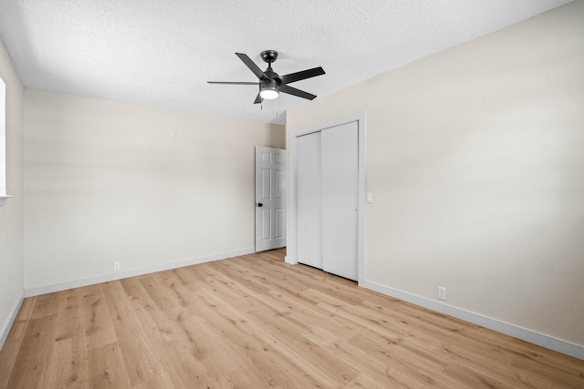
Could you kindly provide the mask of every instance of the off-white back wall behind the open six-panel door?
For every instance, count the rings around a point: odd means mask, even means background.
[[[176,137],[176,138],[174,138]],[[26,288],[253,251],[282,126],[26,89]]]

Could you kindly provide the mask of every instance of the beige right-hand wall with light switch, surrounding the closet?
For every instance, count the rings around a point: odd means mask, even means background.
[[[287,112],[367,115],[365,278],[584,345],[584,2]]]

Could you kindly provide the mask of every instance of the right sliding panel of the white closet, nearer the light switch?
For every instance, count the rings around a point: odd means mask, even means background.
[[[357,121],[321,131],[322,269],[350,280],[358,275],[358,134]]]

